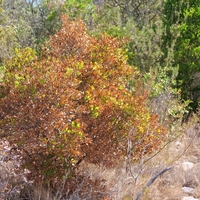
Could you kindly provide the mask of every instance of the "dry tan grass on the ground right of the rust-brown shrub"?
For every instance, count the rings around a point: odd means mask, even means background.
[[[126,199],[125,196],[136,199],[137,194],[152,177],[172,166],[171,170],[155,180],[140,199],[180,200],[189,196],[182,187],[194,188],[192,196],[200,198],[200,125],[193,120],[185,124],[182,131],[182,134],[174,133],[178,137],[174,137],[176,139],[148,162],[144,160],[140,164],[132,165],[133,176],[130,171],[126,172],[125,164],[112,169],[87,164],[84,166],[84,173],[93,179],[105,179],[110,199]],[[187,162],[194,164],[192,169],[185,170],[184,163]]]

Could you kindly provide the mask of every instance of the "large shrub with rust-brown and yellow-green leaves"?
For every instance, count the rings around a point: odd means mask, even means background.
[[[61,18],[39,56],[18,49],[6,64],[0,128],[34,179],[61,179],[83,158],[116,164],[128,140],[132,160],[140,159],[166,134],[148,111],[139,72],[127,64],[125,41],[91,37],[81,21]]]

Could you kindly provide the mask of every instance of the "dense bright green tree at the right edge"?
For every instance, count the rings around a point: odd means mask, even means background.
[[[200,85],[194,83],[194,76],[200,72],[200,2],[167,0],[163,13],[167,29],[165,44],[170,46],[173,33],[179,32],[174,46],[174,66],[179,66],[178,86],[182,97],[192,99],[196,108],[200,91]]]

